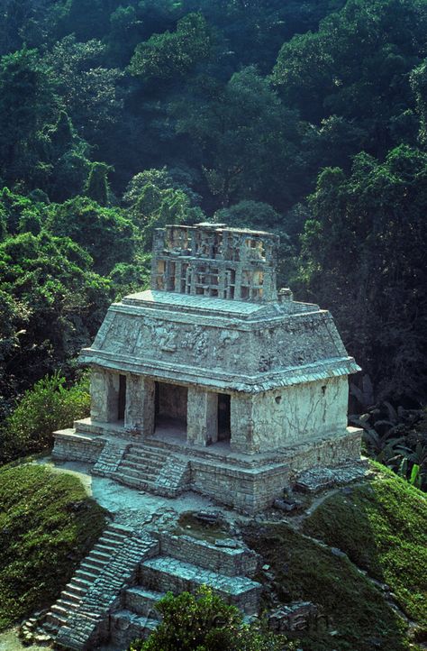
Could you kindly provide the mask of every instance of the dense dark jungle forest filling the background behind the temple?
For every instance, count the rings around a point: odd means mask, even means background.
[[[424,404],[426,34],[427,0],[4,0],[0,419],[74,380],[156,226],[206,218],[281,235],[370,382],[354,413]]]

